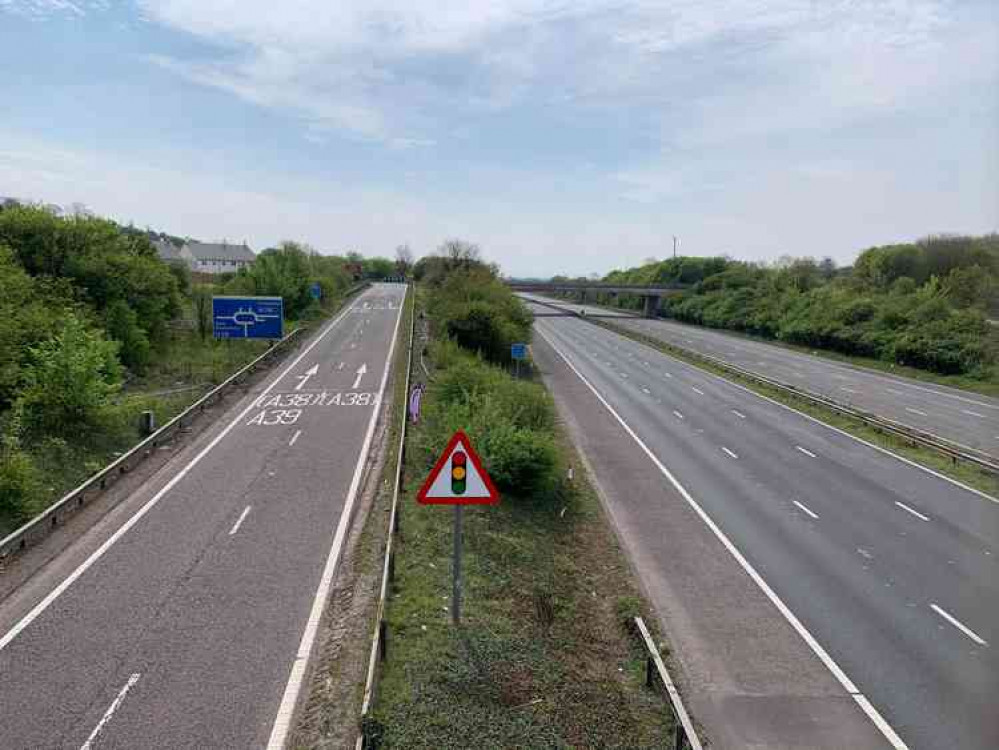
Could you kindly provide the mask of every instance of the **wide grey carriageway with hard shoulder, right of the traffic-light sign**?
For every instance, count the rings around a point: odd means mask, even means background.
[[[584,320],[535,331],[718,746],[999,747],[995,500]]]

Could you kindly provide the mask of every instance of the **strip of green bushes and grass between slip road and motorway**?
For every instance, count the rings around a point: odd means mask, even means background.
[[[664,747],[668,709],[644,687],[642,652],[623,626],[642,606],[630,569],[551,397],[511,374],[510,344],[530,340],[529,312],[481,263],[428,258],[415,275],[432,378],[407,436],[390,645],[365,727],[372,746]],[[451,512],[413,498],[458,428],[502,499],[465,510],[456,628]]]

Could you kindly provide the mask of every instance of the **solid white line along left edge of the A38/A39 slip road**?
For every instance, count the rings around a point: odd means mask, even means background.
[[[183,479],[185,476],[187,476],[187,473],[195,466],[197,466],[198,463],[201,461],[201,459],[207,456],[208,453],[216,445],[218,445],[222,441],[222,439],[225,438],[225,436],[228,435],[232,431],[232,429],[236,425],[238,425],[244,419],[244,417],[246,417],[247,414],[250,413],[252,409],[256,408],[257,402],[260,400],[260,398],[270,393],[270,391],[274,388],[274,386],[277,385],[279,382],[281,382],[281,380],[283,380],[284,377],[298,365],[298,363],[302,360],[302,358],[304,358],[306,354],[312,351],[312,349],[316,346],[316,344],[318,344],[320,341],[326,338],[326,334],[328,334],[331,330],[333,330],[333,327],[337,323],[343,320],[344,316],[347,315],[350,309],[351,309],[350,307],[346,308],[343,312],[337,315],[332,321],[330,321],[330,324],[326,326],[323,332],[320,333],[318,336],[316,336],[316,338],[312,341],[312,343],[309,344],[301,353],[299,353],[297,357],[295,357],[294,362],[288,365],[288,367],[286,367],[280,375],[278,375],[276,378],[274,378],[274,380],[271,381],[270,385],[268,385],[267,388],[263,390],[260,396],[253,399],[250,402],[249,406],[243,409],[243,411],[241,411],[235,417],[235,419],[233,419],[229,424],[227,424],[225,428],[218,435],[212,438],[211,442],[208,443],[208,445],[202,448],[201,451],[194,458],[192,458],[185,466],[183,466],[176,474],[174,474],[174,476],[170,479],[169,482],[163,485],[163,487],[155,495],[153,495],[149,500],[146,501],[145,505],[139,508],[131,518],[125,521],[125,523],[123,523],[118,528],[118,530],[114,532],[114,534],[108,537],[104,541],[104,543],[96,550],[94,550],[86,560],[80,563],[76,567],[76,569],[73,570],[72,573],[66,576],[66,578],[63,579],[62,583],[60,583],[58,586],[52,589],[52,591],[50,591],[44,599],[38,602],[38,604],[36,604],[31,609],[31,611],[28,612],[28,614],[22,617],[14,625],[14,627],[12,627],[2,637],[0,637],[0,651],[3,651],[3,649],[6,648],[7,645],[11,641],[13,641],[21,633],[22,630],[28,627],[28,625],[30,625],[40,614],[42,614],[42,612],[48,609],[49,606],[51,606],[52,602],[54,602],[56,599],[62,596],[63,592],[65,592],[66,589],[72,586],[73,583],[76,582],[76,580],[80,576],[86,573],[87,570],[94,563],[100,560],[101,557],[104,556],[104,553],[106,553],[109,549],[111,549],[111,547],[114,546],[115,542],[117,542],[119,539],[125,536],[125,534],[127,534],[129,530],[131,530],[131,528],[135,526],[135,524],[137,524],[142,519],[143,516],[146,515],[146,513],[151,511],[164,495],[166,495],[170,490],[172,490],[175,486],[177,486],[177,483],[180,482],[180,480]]]

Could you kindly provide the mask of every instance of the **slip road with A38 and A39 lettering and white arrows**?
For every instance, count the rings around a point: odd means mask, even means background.
[[[0,747],[284,738],[404,295],[385,284],[355,299],[0,604]]]

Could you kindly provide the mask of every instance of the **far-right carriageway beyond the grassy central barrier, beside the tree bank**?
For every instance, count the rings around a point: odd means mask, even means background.
[[[615,325],[708,354],[858,409],[999,457],[999,399],[840,364],[700,326],[637,318],[609,308],[543,299],[589,314],[614,315]]]

